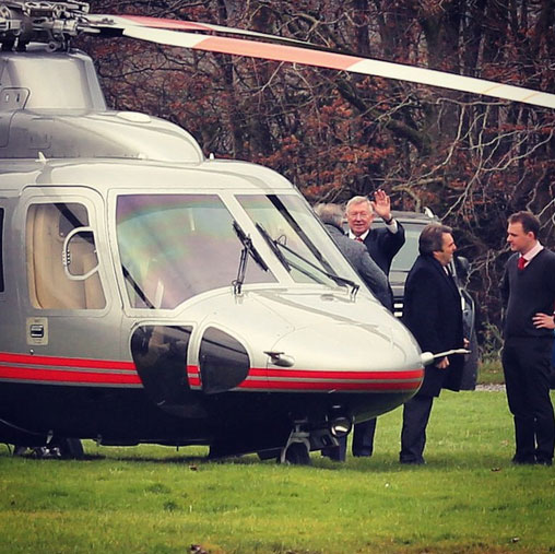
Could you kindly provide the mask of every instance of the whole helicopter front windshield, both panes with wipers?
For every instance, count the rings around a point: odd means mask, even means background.
[[[118,196],[116,233],[131,307],[173,309],[225,286],[238,294],[244,284],[278,282],[272,269],[280,264],[294,282],[356,292],[356,273],[302,198],[235,198],[240,213],[217,195]],[[271,259],[262,257],[264,243]]]

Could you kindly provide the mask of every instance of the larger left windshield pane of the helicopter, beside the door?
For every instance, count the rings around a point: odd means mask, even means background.
[[[231,286],[244,248],[215,195],[125,195],[117,201],[117,238],[132,307],[172,309]],[[252,259],[245,283],[275,282]]]

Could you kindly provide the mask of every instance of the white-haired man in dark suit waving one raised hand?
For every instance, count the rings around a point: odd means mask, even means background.
[[[374,201],[367,197],[353,197],[346,204],[345,215],[349,223],[350,238],[364,243],[373,260],[389,278],[391,261],[404,245],[404,228],[391,215],[391,200],[383,190],[374,195]],[[379,215],[386,227],[371,228],[374,219]],[[389,286],[391,305],[393,293]],[[353,456],[371,456],[376,419],[357,423],[353,433]]]

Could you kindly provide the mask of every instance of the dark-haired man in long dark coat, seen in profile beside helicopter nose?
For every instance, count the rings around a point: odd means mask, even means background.
[[[420,256],[406,278],[403,322],[423,352],[438,354],[468,344],[459,290],[448,270],[456,249],[450,227],[433,223],[422,231]],[[422,387],[403,406],[401,463],[424,463],[426,426],[434,397],[442,388],[460,389],[463,363],[463,356],[452,355],[425,368]]]

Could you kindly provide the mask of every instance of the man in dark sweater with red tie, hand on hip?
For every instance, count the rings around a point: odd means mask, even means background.
[[[555,419],[550,398],[553,335],[542,314],[553,314],[555,254],[538,240],[540,221],[531,212],[508,220],[515,252],[501,284],[506,304],[501,355],[509,410],[515,420],[513,463],[551,465]],[[553,316],[552,316],[553,317]]]

